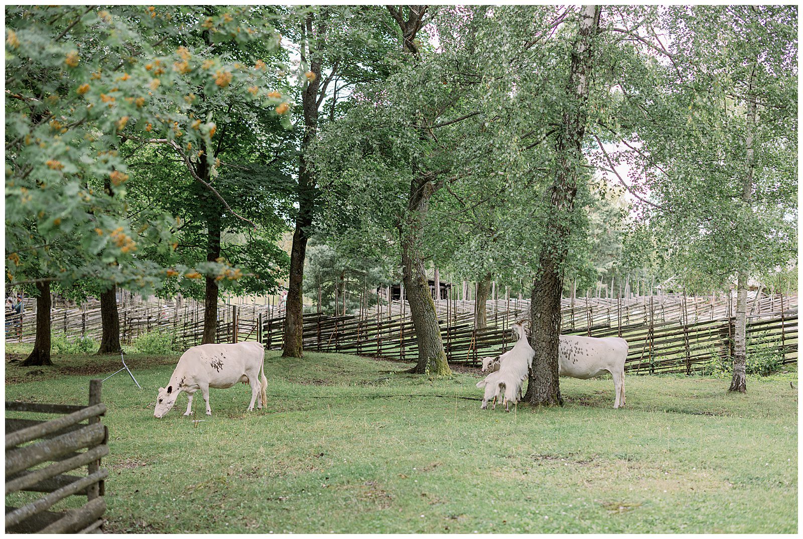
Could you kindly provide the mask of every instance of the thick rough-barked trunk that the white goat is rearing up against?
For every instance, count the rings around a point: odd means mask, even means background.
[[[585,104],[589,99],[593,67],[594,39],[599,30],[599,6],[582,6],[566,84],[570,106],[563,112],[561,129],[556,137],[555,180],[549,190],[550,209],[547,216],[551,243],[541,247],[540,272],[532,283],[530,303],[530,345],[536,355],[532,360],[527,395],[534,405],[563,404],[560,397],[557,349],[560,336],[560,296],[567,240],[571,231],[568,216],[574,210],[578,169],[585,162],[581,142],[585,134]]]

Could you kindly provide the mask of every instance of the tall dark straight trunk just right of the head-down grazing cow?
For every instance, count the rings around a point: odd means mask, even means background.
[[[325,24],[320,23],[316,37],[323,39]],[[314,35],[312,31],[312,14],[308,14],[302,25],[304,35]],[[290,282],[287,284],[287,303],[284,313],[284,345],[283,357],[302,357],[304,355],[304,259],[307,256],[307,241],[312,227],[312,215],[315,211],[316,181],[309,167],[307,149],[315,140],[318,129],[318,90],[320,85],[321,58],[320,46],[314,54],[310,54],[310,71],[315,73],[313,80],[308,80],[307,88],[301,92],[301,103],[304,108],[304,137],[301,139],[299,157],[299,213],[296,217],[296,231],[293,233],[293,244],[290,251]],[[311,51],[312,53],[312,51]],[[304,61],[304,52],[302,51]],[[335,314],[337,306],[335,306]]]

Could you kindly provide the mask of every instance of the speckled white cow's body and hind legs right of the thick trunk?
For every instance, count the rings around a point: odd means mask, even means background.
[[[560,335],[557,365],[560,376],[588,380],[606,372],[613,376],[616,400],[613,407],[625,405],[625,361],[627,341],[620,337],[581,337]]]

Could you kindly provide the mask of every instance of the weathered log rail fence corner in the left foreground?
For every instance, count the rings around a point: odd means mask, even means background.
[[[6,532],[101,533],[108,470],[100,468],[100,459],[108,455],[108,429],[100,423],[106,413],[100,387],[100,380],[89,382],[89,406],[6,401],[6,416],[64,414],[51,420],[6,417]],[[86,476],[64,473],[84,466]],[[10,506],[9,498],[19,491],[43,496],[18,508]],[[63,512],[47,510],[68,496],[86,496],[87,503]]]

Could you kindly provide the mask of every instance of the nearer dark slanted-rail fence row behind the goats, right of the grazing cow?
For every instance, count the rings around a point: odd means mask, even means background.
[[[712,358],[732,356],[736,319],[680,324],[658,322],[648,325],[597,325],[564,329],[567,335],[623,337],[630,345],[626,370],[637,373],[691,374]],[[268,349],[283,342],[283,318],[263,321],[262,341]],[[766,350],[782,363],[797,361],[797,313],[794,316],[748,321],[748,353]],[[478,365],[483,356],[502,353],[512,347],[515,337],[508,328],[489,326],[475,329],[471,321],[441,324],[446,357],[451,363]],[[418,354],[413,322],[366,321],[357,316],[304,316],[304,349],[320,352],[357,353],[390,359],[414,360]]]

